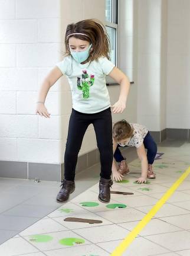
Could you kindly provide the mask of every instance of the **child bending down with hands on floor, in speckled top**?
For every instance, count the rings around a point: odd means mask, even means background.
[[[126,120],[118,121],[113,126],[113,180],[121,181],[129,172],[126,159],[122,156],[119,147],[135,146],[141,161],[142,174],[137,183],[146,183],[146,178],[156,178],[152,164],[157,153],[157,146],[149,130],[142,124],[127,123]],[[147,149],[147,153],[145,151]],[[116,162],[119,162],[117,169]]]

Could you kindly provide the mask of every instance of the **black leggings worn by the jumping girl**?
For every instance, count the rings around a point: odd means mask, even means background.
[[[107,108],[95,114],[84,114],[72,110],[64,156],[65,180],[74,181],[78,152],[89,124],[94,126],[100,152],[100,177],[110,179],[113,161],[112,113],[110,108]]]

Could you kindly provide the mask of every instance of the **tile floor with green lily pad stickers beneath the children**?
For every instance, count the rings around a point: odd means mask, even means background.
[[[136,177],[139,177],[137,173],[140,173],[139,160],[135,159],[129,164],[130,174],[125,177],[126,182],[112,186],[113,191],[133,194],[111,194],[109,204],[97,200],[98,183],[89,183],[85,191],[78,190],[68,203],[57,206],[54,197],[59,190],[58,183],[44,181],[37,185],[19,180],[15,184],[16,181],[9,179],[10,186],[14,184],[10,189],[7,180],[1,179],[0,233],[5,240],[11,236],[13,238],[0,245],[0,255],[110,255],[190,166],[190,143],[178,147],[162,145],[158,152],[164,154],[154,164],[156,179],[148,180],[149,184],[135,184]],[[97,166],[93,168],[99,169]],[[94,172],[90,175],[94,177]],[[30,185],[28,182],[31,182]],[[78,187],[83,187],[82,182],[84,180],[79,177]],[[21,191],[22,196],[17,197]],[[68,217],[100,220],[100,223],[67,222],[64,219]],[[123,255],[190,255],[190,175]]]

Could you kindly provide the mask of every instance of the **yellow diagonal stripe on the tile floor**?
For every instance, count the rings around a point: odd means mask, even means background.
[[[174,191],[179,187],[179,185],[188,177],[190,173],[190,167],[186,169],[184,174],[173,183],[172,187],[169,188],[168,191],[162,196],[162,198],[155,204],[154,207],[143,217],[142,220],[136,225],[136,227],[126,236],[126,238],[120,243],[116,249],[112,252],[111,256],[121,256],[126,248],[132,243],[132,241],[136,238],[136,236],[142,231],[142,229],[148,224],[148,222],[152,219],[153,216],[158,212],[158,210],[165,204],[165,202],[172,196]]]

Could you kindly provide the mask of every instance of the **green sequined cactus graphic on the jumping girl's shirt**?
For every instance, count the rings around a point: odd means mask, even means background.
[[[83,91],[83,98],[90,97],[90,87],[94,84],[94,75],[89,75],[86,70],[83,70],[82,79],[77,77],[77,88]]]

